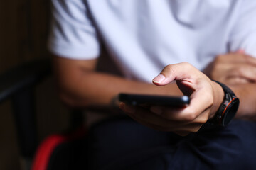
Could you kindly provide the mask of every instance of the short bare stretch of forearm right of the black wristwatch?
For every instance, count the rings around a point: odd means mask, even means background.
[[[240,99],[236,118],[256,120],[256,83],[237,84],[230,88]]]

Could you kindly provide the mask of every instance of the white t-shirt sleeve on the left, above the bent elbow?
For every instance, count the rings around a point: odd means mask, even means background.
[[[90,60],[100,55],[97,32],[84,1],[52,0],[48,49],[75,60]]]

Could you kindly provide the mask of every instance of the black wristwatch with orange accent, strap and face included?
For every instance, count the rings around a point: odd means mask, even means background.
[[[215,80],[213,80],[215,81]],[[230,121],[235,117],[235,113],[238,111],[239,99],[235,96],[234,92],[218,81],[216,83],[220,84],[224,91],[223,103],[221,103],[220,108],[218,108],[215,117],[210,122],[214,125],[228,125]]]

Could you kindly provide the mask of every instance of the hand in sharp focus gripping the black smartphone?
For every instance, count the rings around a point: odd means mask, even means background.
[[[121,103],[120,108],[137,122],[155,130],[176,132],[178,135],[197,132],[215,115],[223,101],[223,89],[188,63],[166,66],[159,76],[154,78],[153,83],[166,86],[174,80],[183,94],[190,96],[191,103],[188,106],[151,106],[147,109]]]

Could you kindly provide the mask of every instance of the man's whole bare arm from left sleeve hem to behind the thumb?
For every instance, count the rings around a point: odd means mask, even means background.
[[[70,60],[53,57],[53,70],[60,98],[73,107],[107,106],[120,92],[182,95],[176,84],[155,86],[96,72],[97,60]]]

